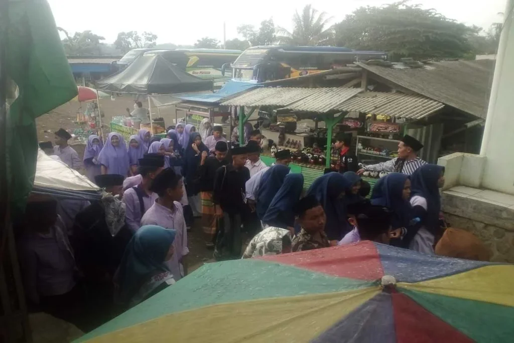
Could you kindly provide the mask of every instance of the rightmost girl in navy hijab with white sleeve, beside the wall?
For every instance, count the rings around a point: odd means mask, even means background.
[[[420,213],[421,228],[417,231],[409,248],[434,254],[435,237],[440,234],[439,212],[441,197],[439,188],[445,184],[445,168],[437,165],[423,165],[411,175],[411,205]]]

